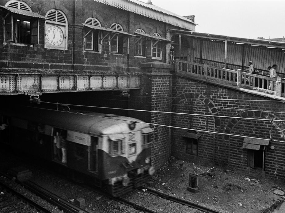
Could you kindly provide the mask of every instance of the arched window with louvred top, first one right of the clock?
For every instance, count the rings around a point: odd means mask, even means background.
[[[88,18],[84,22],[84,50],[101,52],[101,23],[96,18]]]

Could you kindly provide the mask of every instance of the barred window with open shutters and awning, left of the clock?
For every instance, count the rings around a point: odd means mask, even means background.
[[[9,1],[0,9],[4,11],[5,42],[38,44],[38,20],[45,19],[44,16],[33,13],[22,1]]]

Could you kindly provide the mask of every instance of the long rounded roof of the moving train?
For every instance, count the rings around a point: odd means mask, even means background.
[[[150,127],[139,119],[97,112],[76,113],[35,107],[22,107],[18,110],[9,108],[1,109],[1,111],[4,115],[25,119],[33,123],[41,123],[91,135],[129,132],[129,124],[133,122],[136,122],[133,131]]]

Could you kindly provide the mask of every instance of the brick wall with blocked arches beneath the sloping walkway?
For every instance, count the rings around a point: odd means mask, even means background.
[[[173,155],[184,160],[208,160],[249,174],[285,178],[285,124],[262,120],[285,120],[284,114],[277,113],[284,111],[282,102],[179,76],[173,76],[172,100],[173,112],[210,115],[172,115],[172,126],[194,129],[201,134],[195,156],[185,153],[182,135],[186,130],[172,129]],[[242,148],[244,138],[235,135],[269,140],[271,131],[272,140],[264,152],[264,171],[248,167],[248,149]]]

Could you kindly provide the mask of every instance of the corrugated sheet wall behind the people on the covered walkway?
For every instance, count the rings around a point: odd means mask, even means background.
[[[194,39],[194,57],[200,58],[200,39]],[[245,48],[244,67],[248,62],[253,61],[256,69],[267,70],[268,66],[277,65],[277,72],[285,74],[285,53],[284,50],[266,48],[262,46],[251,46],[244,44],[227,43],[227,63],[242,66],[242,49]],[[203,40],[202,58],[220,63],[225,62],[225,43]],[[212,62],[212,64],[215,64]],[[217,63],[218,65],[218,63]]]

